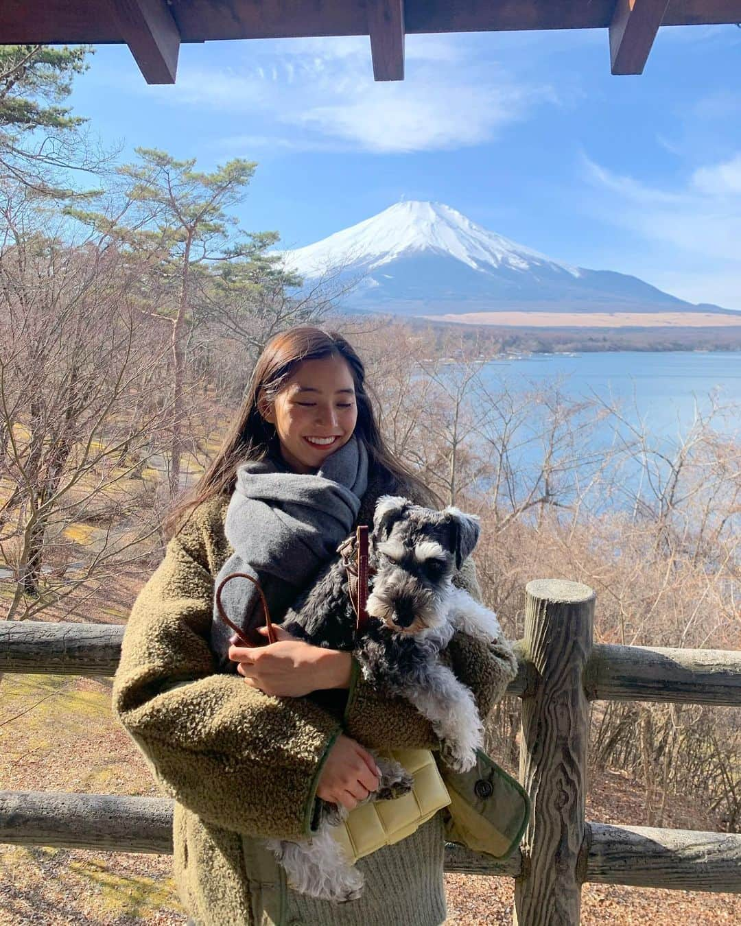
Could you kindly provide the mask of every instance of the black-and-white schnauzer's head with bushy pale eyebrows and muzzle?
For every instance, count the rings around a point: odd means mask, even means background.
[[[443,511],[383,495],[371,534],[373,566],[368,613],[392,630],[417,633],[446,620],[451,577],[480,532],[478,519],[456,507]]]

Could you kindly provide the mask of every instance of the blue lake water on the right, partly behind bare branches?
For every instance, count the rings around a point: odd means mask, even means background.
[[[711,397],[720,409],[712,416],[712,430],[732,440],[741,440],[741,352],[531,355],[489,361],[482,365],[480,375],[491,394],[503,388],[510,394],[534,393],[541,389],[547,394],[557,386],[566,402],[594,402],[600,397],[621,409],[624,422],[610,415],[597,424],[588,424],[594,411],[585,408],[572,419],[571,425],[565,425],[559,432],[559,453],[565,459],[570,453],[570,432],[579,429],[571,450],[577,457],[589,461],[583,476],[590,468],[597,467],[608,448],[621,447],[624,451],[620,462],[616,463],[619,469],[611,470],[615,477],[613,491],[600,497],[600,490],[596,489],[597,498],[591,499],[594,510],[633,507],[636,493],[650,498],[646,460],[655,474],[654,483],[660,488],[662,475],[669,472],[660,455],[673,456],[680,440],[691,432],[697,412],[708,416]],[[496,414],[489,414],[490,422],[496,422]],[[547,419],[545,404],[534,398],[510,440],[514,449],[509,462],[521,491],[534,484],[540,471],[544,458],[544,441],[540,434]],[[499,427],[493,423],[490,434]],[[625,450],[625,444],[635,440],[633,429],[645,433],[647,457],[635,447]],[[496,441],[491,447],[494,462],[498,452]],[[576,488],[572,474],[557,473],[553,484],[559,489],[561,500],[571,500]],[[584,479],[579,484],[584,486]]]

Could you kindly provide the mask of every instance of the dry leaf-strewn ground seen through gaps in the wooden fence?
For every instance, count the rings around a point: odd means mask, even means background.
[[[157,795],[143,758],[111,717],[109,680],[6,675],[0,740],[3,789]],[[640,824],[637,783],[616,771],[602,774],[590,788],[587,819]],[[711,822],[675,800],[665,825],[712,829]],[[183,923],[170,865],[169,856],[0,845],[0,923]],[[450,874],[446,887],[451,926],[512,921],[508,878]],[[583,897],[584,924],[741,922],[735,895],[587,885]]]

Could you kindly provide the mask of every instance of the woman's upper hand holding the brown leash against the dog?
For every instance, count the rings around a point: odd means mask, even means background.
[[[245,684],[275,697],[303,697],[320,688],[347,688],[352,657],[336,649],[313,646],[298,640],[277,624],[276,642],[267,646],[229,647],[228,656],[238,662]],[[260,627],[267,635],[267,627]]]

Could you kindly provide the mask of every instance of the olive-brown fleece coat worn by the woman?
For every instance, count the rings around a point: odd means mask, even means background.
[[[376,499],[386,491],[371,478],[358,523],[371,522]],[[265,857],[257,864],[255,837],[309,835],[320,771],[339,733],[345,730],[371,748],[436,749],[439,742],[415,707],[372,687],[357,664],[350,690],[337,692],[336,713],[307,698],[262,694],[240,675],[215,674],[207,641],[214,576],[232,554],[224,535],[227,505],[227,498],[219,498],[195,509],[138,595],[114,676],[112,709],[159,788],[175,800],[173,871],[189,915],[199,926],[258,926],[261,895],[281,870],[273,865],[266,871]],[[470,560],[454,582],[480,597]],[[507,668],[486,644],[460,632],[445,657],[485,717],[504,694]],[[361,920],[351,914],[352,904],[315,902],[325,905],[318,912],[290,891],[280,919],[307,926],[442,922],[439,817],[360,860],[367,878],[367,897],[357,902],[364,907]],[[266,914],[262,921],[273,920]]]

